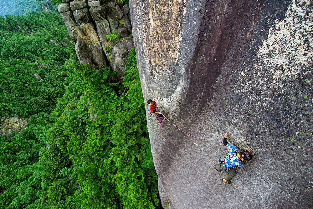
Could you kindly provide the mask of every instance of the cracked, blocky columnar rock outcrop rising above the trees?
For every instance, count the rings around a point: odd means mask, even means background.
[[[122,82],[126,60],[134,46],[128,17],[128,4],[121,0],[62,0],[58,5],[61,17],[75,42],[80,63],[90,67],[110,65]],[[104,3],[106,2],[106,3]],[[111,42],[106,36],[117,32]],[[113,56],[114,52],[114,56]],[[111,55],[112,53],[112,55]]]

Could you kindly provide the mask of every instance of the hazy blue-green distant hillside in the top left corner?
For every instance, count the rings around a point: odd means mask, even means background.
[[[28,12],[57,12],[49,0],[0,0],[0,15],[24,16]]]

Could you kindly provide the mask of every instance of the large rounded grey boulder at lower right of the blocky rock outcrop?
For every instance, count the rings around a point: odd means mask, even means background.
[[[127,57],[131,53],[130,49],[134,47],[134,42],[132,38],[127,38],[121,43],[117,43],[111,52],[110,66],[116,72],[119,81],[123,82],[123,73],[125,72]]]

